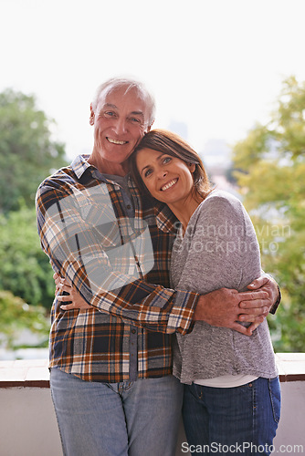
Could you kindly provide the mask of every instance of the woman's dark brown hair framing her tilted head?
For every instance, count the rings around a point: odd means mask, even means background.
[[[212,192],[204,163],[201,161],[197,152],[186,141],[180,138],[180,136],[167,130],[151,130],[146,133],[129,158],[131,177],[137,184],[140,192],[148,192],[136,163],[137,152],[142,149],[157,150],[158,152],[183,160],[185,163],[195,163],[195,171],[193,172],[195,190],[204,198],[208,193]]]

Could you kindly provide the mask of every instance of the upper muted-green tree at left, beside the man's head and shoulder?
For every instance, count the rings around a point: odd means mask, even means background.
[[[52,140],[54,120],[34,96],[12,89],[0,93],[0,211],[16,211],[22,197],[33,205],[37,186],[66,164],[63,144]]]

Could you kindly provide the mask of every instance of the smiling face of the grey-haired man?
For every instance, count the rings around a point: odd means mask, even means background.
[[[99,154],[105,172],[112,164],[121,164],[149,130],[148,109],[136,89],[116,88],[101,96],[94,120],[94,153]]]

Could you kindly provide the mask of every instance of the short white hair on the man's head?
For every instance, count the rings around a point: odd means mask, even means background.
[[[125,93],[133,88],[137,90],[139,97],[142,98],[148,108],[148,123],[149,125],[153,125],[155,119],[155,101],[153,95],[142,82],[132,78],[110,78],[100,84],[91,103],[93,111],[96,111],[102,95],[106,96],[112,90],[121,87],[126,87]]]

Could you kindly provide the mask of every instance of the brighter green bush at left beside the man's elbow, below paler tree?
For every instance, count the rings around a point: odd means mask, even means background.
[[[35,208],[0,215],[0,289],[27,304],[48,309],[54,298],[53,271],[41,250]]]

